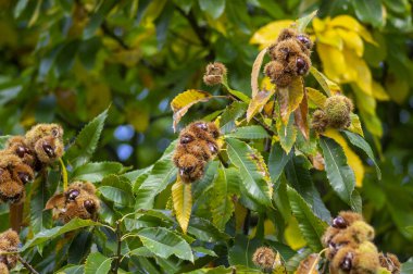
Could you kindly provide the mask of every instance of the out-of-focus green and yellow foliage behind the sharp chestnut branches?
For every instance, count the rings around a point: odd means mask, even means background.
[[[189,88],[221,92],[202,84],[209,62],[225,63],[230,86],[249,95],[260,48],[275,39],[280,26],[318,10],[309,26],[316,41],[313,63],[355,101],[366,138],[381,160],[383,180],[368,172],[364,177],[364,214],[377,229],[377,244],[403,260],[413,254],[411,4],[0,0],[0,134],[57,122],[70,142],[111,105],[96,160],[148,166],[176,138],[171,100]],[[197,104],[180,124],[226,103]]]

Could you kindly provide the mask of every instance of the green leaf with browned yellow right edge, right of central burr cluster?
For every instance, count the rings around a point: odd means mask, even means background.
[[[271,205],[272,186],[261,154],[243,141],[228,138],[227,152],[241,175],[249,196],[263,205]]]

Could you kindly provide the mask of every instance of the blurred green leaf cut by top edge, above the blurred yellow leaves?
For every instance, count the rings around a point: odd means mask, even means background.
[[[385,25],[383,16],[381,1],[380,0],[352,0],[355,15],[363,23],[370,23],[374,27],[381,27]]]

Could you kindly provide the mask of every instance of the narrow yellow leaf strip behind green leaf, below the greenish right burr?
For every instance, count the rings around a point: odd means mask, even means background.
[[[361,187],[363,185],[364,178],[364,166],[358,154],[355,154],[355,152],[351,150],[345,137],[342,137],[337,129],[327,128],[327,130],[323,133],[323,135],[334,139],[338,145],[340,145],[340,147],[345,151],[347,164],[350,165],[350,167],[354,172],[355,186]]]

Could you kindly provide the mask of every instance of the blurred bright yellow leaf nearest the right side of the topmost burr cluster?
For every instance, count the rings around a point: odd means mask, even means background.
[[[324,73],[329,79],[337,83],[346,83],[354,78],[348,72],[342,51],[322,42],[316,43],[316,50],[323,62]]]

